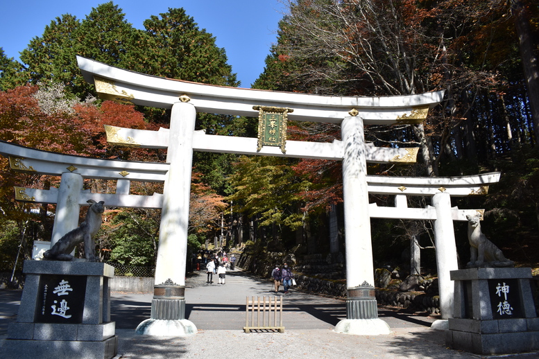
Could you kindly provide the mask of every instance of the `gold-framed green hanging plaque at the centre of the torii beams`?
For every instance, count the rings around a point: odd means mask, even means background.
[[[271,106],[253,106],[253,110],[259,110],[257,151],[262,146],[275,146],[286,153],[286,114],[293,110]]]

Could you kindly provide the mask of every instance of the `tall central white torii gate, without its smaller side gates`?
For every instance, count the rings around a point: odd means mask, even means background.
[[[152,315],[151,319],[139,325],[138,333],[171,333],[171,327],[178,333],[193,331],[194,325],[191,327],[182,317],[185,311],[185,267],[178,266],[176,258],[184,257],[187,252],[192,156],[194,146],[200,143],[194,134],[196,112],[253,117],[257,115],[255,109],[263,107],[290,109],[287,116],[291,120],[341,123],[342,141],[333,143],[333,146],[343,160],[348,315],[337,330],[369,334],[389,332],[387,324],[377,317],[366,161],[369,152],[379,152],[378,157],[385,162],[407,160],[411,156],[415,159],[415,153],[412,155],[409,150],[402,149],[406,154],[402,152],[395,156],[394,152],[391,155],[384,153],[388,151],[386,149],[366,146],[363,123],[420,123],[426,119],[429,108],[442,100],[443,91],[375,98],[316,96],[203,85],[126,71],[80,57],[77,60],[83,76],[94,83],[102,98],[172,110],[168,141],[171,146],[166,157],[171,167],[164,184]],[[142,146],[141,143],[157,146],[155,141],[144,138],[145,135],[132,134],[123,138],[120,130],[114,132],[128,146]],[[197,136],[203,137],[202,150],[228,149],[234,153],[253,154],[262,151],[259,146],[259,150],[244,147],[243,143],[250,141],[248,139],[238,141],[236,138],[222,139],[205,134]],[[223,148],[214,147],[225,142],[227,144]],[[327,144],[297,144],[303,154],[326,152],[322,148]],[[286,155],[294,155],[291,147],[286,142]],[[278,154],[279,150],[285,152],[283,148],[264,147],[264,150],[273,150],[273,154]],[[361,261],[357,261],[358,258]],[[170,324],[169,319],[174,319],[174,323]]]

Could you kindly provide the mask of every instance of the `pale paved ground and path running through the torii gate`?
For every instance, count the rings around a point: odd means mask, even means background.
[[[443,331],[429,328],[434,318],[379,309],[389,335],[346,335],[332,329],[345,318],[345,301],[291,290],[284,296],[284,333],[243,333],[246,297],[273,296],[273,285],[241,270],[226,284],[207,284],[203,272],[186,281],[186,317],[198,329],[188,338],[136,335],[150,317],[151,294],[113,292],[112,320],[119,336],[117,359],[159,358],[539,358],[539,353],[478,356],[445,347]],[[17,316],[20,290],[0,290],[0,340]],[[2,358],[0,347],[0,358]]]

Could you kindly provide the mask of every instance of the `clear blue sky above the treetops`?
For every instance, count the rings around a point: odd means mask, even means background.
[[[0,0],[0,47],[8,58],[18,60],[33,37],[41,36],[46,25],[63,14],[85,19],[106,0]],[[151,15],[169,8],[184,8],[199,28],[216,37],[225,49],[232,71],[241,87],[250,87],[264,71],[264,60],[276,39],[278,21],[282,18],[279,0],[114,0],[135,28]]]

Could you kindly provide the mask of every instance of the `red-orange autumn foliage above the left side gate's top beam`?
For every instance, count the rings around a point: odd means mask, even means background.
[[[105,101],[101,106],[78,103],[72,112],[40,108],[33,97],[37,86],[0,91],[0,139],[23,146],[76,155],[102,156],[103,125],[146,128],[144,116],[133,105]]]

